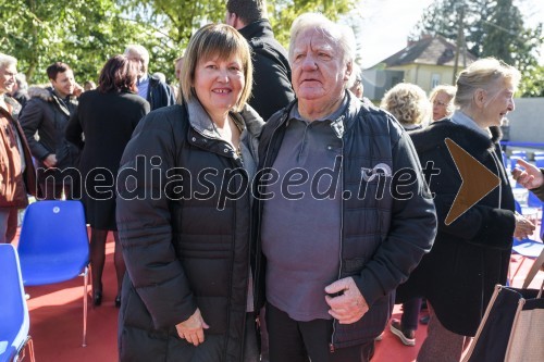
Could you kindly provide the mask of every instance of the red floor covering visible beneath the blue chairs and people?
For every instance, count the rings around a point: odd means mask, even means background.
[[[519,260],[519,255],[512,257],[514,269],[518,266]],[[515,286],[522,284],[531,264],[531,261],[523,264],[514,280]],[[536,278],[542,280],[543,274],[539,273]],[[110,240],[107,245],[107,261],[102,280],[104,297],[102,305],[98,308],[91,307],[89,298],[87,347],[85,348],[82,347],[83,278],[52,286],[26,288],[26,291],[30,295],[28,300],[30,335],[34,339],[35,354],[38,362],[118,361],[118,309],[113,303],[116,288],[114,276],[113,241]],[[533,286],[537,283],[533,283]],[[395,308],[394,317],[399,317],[399,305]],[[425,333],[426,327],[420,324],[416,337],[416,347],[406,347],[397,337],[391,334],[387,327],[383,340],[376,342],[376,352],[372,361],[415,361]]]

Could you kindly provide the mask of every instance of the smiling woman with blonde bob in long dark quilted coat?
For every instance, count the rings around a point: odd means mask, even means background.
[[[263,121],[246,105],[251,74],[238,32],[202,27],[185,53],[183,104],[149,113],[125,149],[121,361],[259,359],[248,188]]]

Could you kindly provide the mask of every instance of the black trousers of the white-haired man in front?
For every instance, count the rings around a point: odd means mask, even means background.
[[[272,304],[267,304],[270,362],[368,362],[374,341],[348,348],[329,349],[332,320],[297,322]]]

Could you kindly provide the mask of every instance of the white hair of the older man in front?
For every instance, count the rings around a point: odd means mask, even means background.
[[[290,26],[289,62],[293,62],[297,37],[300,33],[311,28],[321,30],[324,36],[338,45],[345,63],[355,60],[355,35],[349,26],[336,24],[321,13],[304,13],[295,18]]]

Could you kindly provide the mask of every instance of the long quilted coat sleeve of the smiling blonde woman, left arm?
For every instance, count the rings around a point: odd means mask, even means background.
[[[140,121],[118,174],[116,222],[131,280],[156,328],[186,321],[197,309],[174,250],[166,170],[174,166],[180,130],[154,111]],[[160,160],[160,166],[151,161]],[[160,175],[158,173],[160,170]]]

